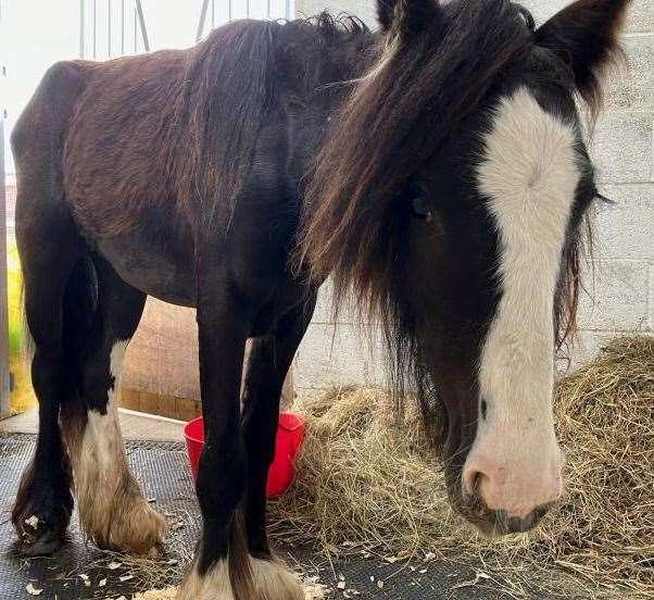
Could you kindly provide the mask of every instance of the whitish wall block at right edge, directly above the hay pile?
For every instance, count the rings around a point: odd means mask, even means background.
[[[645,332],[649,317],[649,264],[644,261],[595,261],[594,277],[584,275],[579,299],[581,329]]]

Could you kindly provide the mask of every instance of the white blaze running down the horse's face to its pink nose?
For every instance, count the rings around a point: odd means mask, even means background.
[[[554,296],[580,180],[574,128],[526,89],[503,99],[485,139],[479,190],[500,241],[502,297],[479,365],[480,416],[464,466],[490,509],[527,516],[562,491],[554,435]]]

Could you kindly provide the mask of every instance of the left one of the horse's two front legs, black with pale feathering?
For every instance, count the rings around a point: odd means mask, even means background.
[[[240,433],[240,382],[250,318],[242,298],[215,274],[200,279],[198,287],[205,445],[196,490],[202,538],[179,598],[257,600],[242,514],[247,459]]]

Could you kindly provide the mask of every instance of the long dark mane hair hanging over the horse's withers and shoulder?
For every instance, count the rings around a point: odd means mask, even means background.
[[[188,125],[188,182],[193,182],[187,193],[207,220],[205,230],[229,228],[260,130],[279,105],[289,49],[310,54],[312,47],[338,47],[368,34],[354,16],[324,12],[297,21],[234,22],[191,50],[180,114]],[[317,50],[313,55],[325,60]]]

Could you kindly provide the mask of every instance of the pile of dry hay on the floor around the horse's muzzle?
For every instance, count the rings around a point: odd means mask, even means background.
[[[530,536],[489,542],[455,516],[417,415],[399,423],[382,391],[343,389],[294,410],[307,435],[295,485],[271,505],[277,538],[326,554],[481,561],[514,589],[539,577],[552,597],[570,593],[558,566],[595,590],[654,598],[654,338],[618,339],[559,382],[567,496]]]

